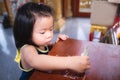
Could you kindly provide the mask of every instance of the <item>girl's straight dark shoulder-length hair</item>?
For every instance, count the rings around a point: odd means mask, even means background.
[[[16,47],[19,49],[24,44],[33,44],[31,37],[36,17],[53,16],[53,10],[45,5],[28,2],[21,6],[15,17],[13,33]]]

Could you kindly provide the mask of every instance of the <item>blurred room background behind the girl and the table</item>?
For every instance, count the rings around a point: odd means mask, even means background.
[[[14,58],[13,23],[17,9],[27,2],[45,3],[55,11],[53,42],[59,33],[70,38],[120,44],[119,0],[0,0],[0,79],[18,80]]]

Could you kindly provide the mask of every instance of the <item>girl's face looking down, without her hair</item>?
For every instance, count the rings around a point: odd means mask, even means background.
[[[32,41],[40,46],[48,45],[53,38],[53,17],[37,18],[34,24]]]

